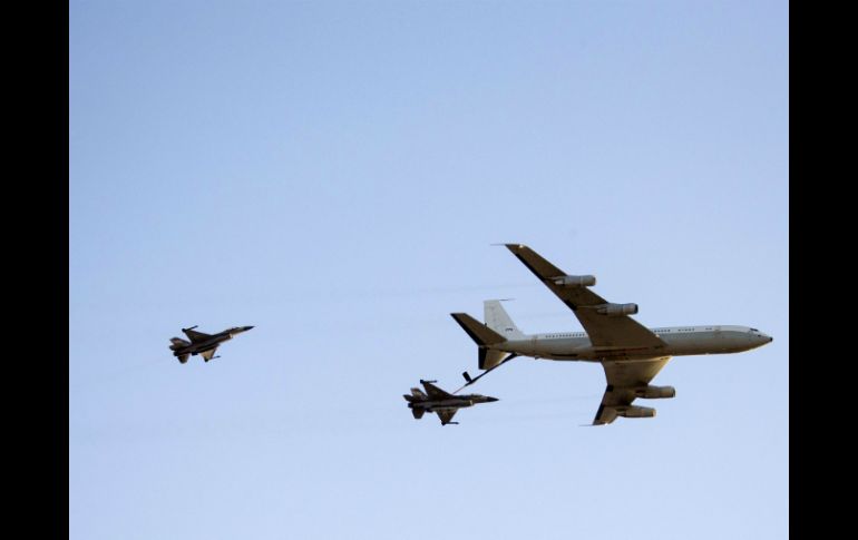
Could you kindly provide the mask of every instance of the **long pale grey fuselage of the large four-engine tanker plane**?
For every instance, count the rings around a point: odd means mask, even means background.
[[[665,346],[594,347],[585,332],[530,334],[494,345],[495,348],[549,360],[643,360],[657,356],[725,354],[757,348],[772,338],[748,326],[673,326],[650,328]]]

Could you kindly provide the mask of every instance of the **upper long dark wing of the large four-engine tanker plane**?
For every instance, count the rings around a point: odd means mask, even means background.
[[[507,248],[524,263],[572,312],[584,326],[595,347],[664,346],[665,343],[649,328],[628,315],[605,316],[595,307],[608,302],[587,287],[564,287],[554,279],[566,273],[521,244],[506,244]]]

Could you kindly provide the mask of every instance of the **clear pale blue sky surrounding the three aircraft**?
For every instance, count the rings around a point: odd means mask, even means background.
[[[788,536],[786,1],[72,1],[75,540]],[[507,304],[578,330],[529,244],[674,359],[652,420],[516,360],[416,421]],[[255,325],[181,365],[179,328]]]

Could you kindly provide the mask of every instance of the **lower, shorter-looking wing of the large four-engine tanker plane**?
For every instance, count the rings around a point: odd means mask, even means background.
[[[663,356],[652,360],[602,362],[607,387],[596,411],[596,418],[593,419],[593,425],[610,424],[616,420],[617,408],[628,406],[635,400],[634,389],[650,384],[670,360],[670,356]]]

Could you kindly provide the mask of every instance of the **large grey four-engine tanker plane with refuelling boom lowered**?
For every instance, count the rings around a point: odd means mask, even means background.
[[[650,384],[671,356],[738,353],[772,341],[748,326],[646,328],[628,316],[637,313],[637,304],[613,304],[591,291],[588,287],[596,284],[594,276],[567,275],[525,245],[505,245],[569,306],[585,332],[524,334],[498,301],[485,303],[485,324],[466,313],[451,315],[479,346],[480,370],[491,370],[516,356],[599,362],[607,387],[594,425],[610,424],[617,416],[655,416],[655,409],[632,402],[676,395],[672,386]],[[464,375],[470,384],[467,372]]]

